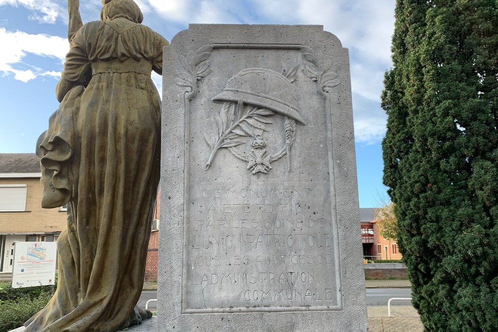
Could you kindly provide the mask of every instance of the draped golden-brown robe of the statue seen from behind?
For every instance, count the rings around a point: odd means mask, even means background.
[[[71,197],[68,223],[57,241],[57,291],[26,322],[27,332],[109,332],[141,322],[135,306],[161,145],[161,104],[150,75],[162,71],[165,45],[125,18],[89,22],[71,41],[62,78],[75,87],[37,148],[42,182],[52,191],[45,200]]]

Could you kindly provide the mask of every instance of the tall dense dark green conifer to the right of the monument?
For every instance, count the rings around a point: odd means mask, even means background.
[[[397,0],[384,184],[431,332],[498,327],[498,2]]]

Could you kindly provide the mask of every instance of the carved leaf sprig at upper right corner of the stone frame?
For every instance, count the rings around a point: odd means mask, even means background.
[[[318,82],[320,87],[319,90],[321,92],[330,92],[334,86],[337,86],[340,83],[338,79],[339,74],[333,71],[329,72],[329,69],[332,66],[332,61],[326,61],[326,68],[324,69],[320,58],[313,49],[307,46],[302,46],[301,52],[303,53],[303,57],[309,62],[309,64],[302,69],[303,74],[305,74],[306,77],[311,78],[314,82]]]

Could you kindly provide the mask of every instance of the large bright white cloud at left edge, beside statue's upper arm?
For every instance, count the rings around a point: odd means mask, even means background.
[[[43,71],[39,68],[23,70],[18,65],[28,53],[52,57],[59,63],[65,58],[69,49],[67,39],[45,34],[29,34],[22,31],[7,31],[0,26],[0,40],[3,51],[0,52],[0,72],[14,74],[16,80],[27,82],[38,75],[56,76],[53,72]],[[17,66],[16,66],[17,65]]]

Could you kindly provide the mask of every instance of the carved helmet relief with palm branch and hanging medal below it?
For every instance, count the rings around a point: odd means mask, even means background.
[[[286,76],[265,68],[243,69],[226,84],[222,93],[213,98],[223,103],[219,114],[214,115],[217,134],[204,133],[211,147],[211,155],[206,163],[207,170],[220,148],[227,148],[232,155],[247,163],[253,174],[267,173],[274,163],[287,155],[287,170],[291,169],[291,147],[296,136],[296,123],[305,125],[299,115],[299,103],[292,86],[292,76],[299,65]],[[291,78],[291,79],[290,79]],[[292,79],[294,80],[294,79]],[[263,140],[274,116],[284,117],[285,145],[275,154],[269,154]],[[246,141],[241,138],[245,137]],[[237,146],[248,144],[252,138],[250,153],[242,153]]]

